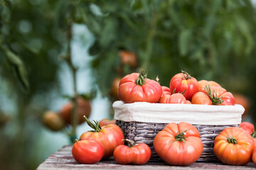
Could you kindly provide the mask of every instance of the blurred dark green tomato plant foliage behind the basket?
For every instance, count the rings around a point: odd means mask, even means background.
[[[161,85],[169,86],[174,74],[186,70],[248,96],[255,122],[252,1],[0,0],[0,18],[0,75],[9,84],[6,94],[18,118],[11,120],[18,125],[15,135],[0,132],[6,139],[0,147],[4,169],[35,169],[40,163],[32,144],[40,132],[41,110],[50,101],[41,100],[38,109],[34,98],[58,89],[58,55],[68,48],[70,23],[85,24],[95,37],[89,52],[103,96],[120,74],[119,50],[129,50],[139,57],[139,67],[124,66],[122,76],[146,68],[149,78],[158,75]]]

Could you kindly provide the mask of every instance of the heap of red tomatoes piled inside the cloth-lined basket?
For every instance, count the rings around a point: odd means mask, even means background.
[[[233,94],[215,81],[197,81],[182,71],[171,78],[170,86],[146,78],[146,73],[128,74],[119,82],[118,96],[124,103],[186,103],[203,105],[235,105]]]

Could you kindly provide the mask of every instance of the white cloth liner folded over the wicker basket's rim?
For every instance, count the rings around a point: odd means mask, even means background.
[[[180,123],[193,125],[237,125],[245,108],[235,106],[208,106],[166,103],[113,103],[114,119],[125,122]]]

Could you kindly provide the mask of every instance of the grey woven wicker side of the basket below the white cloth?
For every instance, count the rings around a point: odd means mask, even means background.
[[[163,130],[166,123],[140,123],[117,120],[117,125],[123,130],[124,138],[132,140],[134,144],[145,143],[151,148],[151,162],[159,162],[161,158],[154,151],[153,141],[156,134]],[[228,127],[238,125],[194,125],[198,129],[203,142],[203,154],[198,162],[219,162],[213,153],[215,137]]]

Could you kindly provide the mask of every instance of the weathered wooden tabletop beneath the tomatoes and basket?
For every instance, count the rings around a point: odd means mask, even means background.
[[[60,170],[60,169],[132,169],[132,170],[161,170],[161,169],[256,169],[256,165],[250,162],[246,166],[230,166],[221,163],[195,162],[190,166],[170,166],[164,162],[148,162],[145,165],[120,165],[113,157],[97,164],[79,164],[71,154],[72,145],[65,146],[50,155],[45,162],[40,164],[37,170]]]

